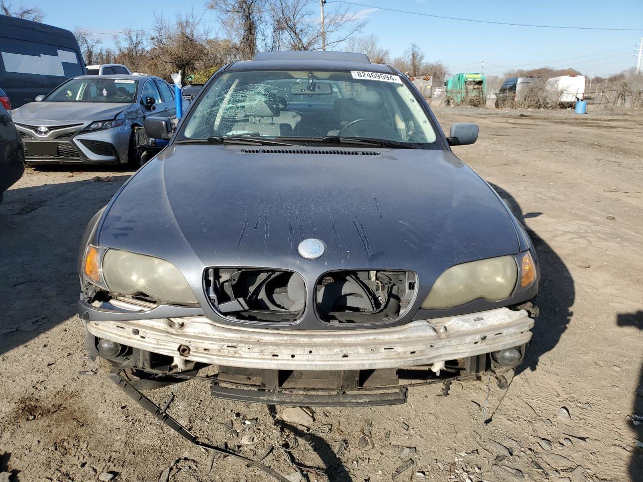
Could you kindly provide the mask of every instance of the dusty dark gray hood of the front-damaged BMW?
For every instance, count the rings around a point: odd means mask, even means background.
[[[452,152],[170,145],[105,211],[98,242],[203,267],[447,267],[519,251],[505,205]],[[297,245],[318,238],[318,260]],[[314,267],[314,268],[313,268]]]

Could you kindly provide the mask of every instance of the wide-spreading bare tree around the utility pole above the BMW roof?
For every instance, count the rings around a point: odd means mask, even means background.
[[[284,47],[291,50],[321,48],[324,32],[321,23],[307,0],[272,0],[272,19],[275,31],[284,37]],[[327,10],[325,15],[326,47],[345,42],[361,30],[366,20],[359,19],[348,7]],[[282,42],[280,42],[282,43]]]

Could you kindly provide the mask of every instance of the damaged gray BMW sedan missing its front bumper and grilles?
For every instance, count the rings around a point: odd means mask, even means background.
[[[409,387],[525,357],[539,271],[520,222],[452,152],[396,69],[365,55],[259,53],[222,67],[168,146],[89,223],[87,350],[140,390],[403,403]],[[176,428],[176,427],[175,427]]]

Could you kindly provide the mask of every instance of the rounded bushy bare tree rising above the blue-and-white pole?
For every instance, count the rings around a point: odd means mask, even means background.
[[[201,17],[196,17],[194,12],[188,15],[178,15],[174,24],[156,18],[152,42],[152,56],[159,60],[172,71],[183,71],[188,75],[194,71],[197,64],[210,57],[207,42],[210,32],[206,28],[199,28],[202,24]]]

